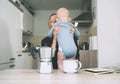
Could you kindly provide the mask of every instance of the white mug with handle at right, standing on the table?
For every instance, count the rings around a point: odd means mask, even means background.
[[[63,72],[75,73],[81,68],[81,62],[79,60],[63,60]]]

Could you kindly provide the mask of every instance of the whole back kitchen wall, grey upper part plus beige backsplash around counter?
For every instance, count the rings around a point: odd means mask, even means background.
[[[96,14],[96,0],[92,0],[92,12]],[[40,41],[43,39],[48,31],[48,18],[49,16],[56,12],[56,10],[36,10],[34,15],[34,35],[24,36],[23,41],[30,41],[35,46],[41,45]],[[70,10],[72,19],[81,14],[83,10]],[[90,27],[78,27],[80,31],[80,43],[89,42],[89,37],[97,36],[97,17],[94,17],[93,24]]]

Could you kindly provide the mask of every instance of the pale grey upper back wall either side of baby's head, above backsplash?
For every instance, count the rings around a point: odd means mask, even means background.
[[[39,10],[35,11],[35,27],[34,27],[34,34],[37,36],[40,35],[47,35],[49,28],[48,28],[48,18],[49,16],[56,12],[56,10]],[[78,16],[81,12],[80,10],[70,10],[71,17],[74,18]]]

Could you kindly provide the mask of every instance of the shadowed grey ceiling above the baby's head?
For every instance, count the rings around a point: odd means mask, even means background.
[[[83,4],[87,0],[22,0],[33,10],[57,10],[66,7],[69,10],[82,10]]]

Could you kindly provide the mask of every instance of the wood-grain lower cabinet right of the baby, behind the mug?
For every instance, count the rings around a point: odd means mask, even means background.
[[[97,50],[80,50],[80,61],[82,68],[96,68]]]

